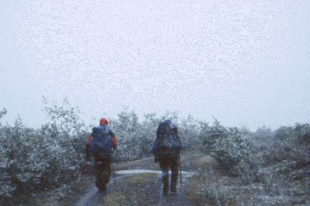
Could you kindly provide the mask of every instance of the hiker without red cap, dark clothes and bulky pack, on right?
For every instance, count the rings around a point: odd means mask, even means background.
[[[176,192],[176,183],[178,181],[178,160],[180,158],[180,150],[182,142],[178,136],[178,128],[167,119],[161,122],[157,128],[156,140],[154,142],[152,153],[154,154],[155,163],[159,162],[159,166],[163,172],[163,195],[169,192],[169,169],[172,176],[170,181],[170,192]]]

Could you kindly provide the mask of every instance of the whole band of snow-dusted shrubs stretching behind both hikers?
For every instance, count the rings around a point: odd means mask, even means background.
[[[67,100],[61,105],[45,102],[50,121],[41,128],[28,128],[17,118],[13,126],[0,122],[0,197],[4,200],[23,192],[58,187],[76,179],[85,165],[84,146],[92,126],[85,126],[79,108]],[[7,111],[0,112],[1,118]],[[277,164],[280,171],[307,165],[309,124],[283,126],[272,131],[258,128],[229,128],[214,119],[213,124],[192,116],[179,119],[176,112],[158,116],[150,113],[142,120],[124,109],[110,126],[118,138],[117,161],[139,159],[150,154],[156,128],[163,119],[178,124],[185,150],[211,155],[227,175],[241,176],[245,183],[260,181],[262,165]],[[280,163],[280,165],[279,165]]]

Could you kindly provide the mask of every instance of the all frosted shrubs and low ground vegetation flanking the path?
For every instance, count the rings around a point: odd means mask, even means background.
[[[19,196],[52,190],[85,174],[84,146],[90,126],[81,120],[79,108],[68,100],[61,104],[43,102],[49,121],[41,128],[28,128],[17,117],[14,125],[1,122],[8,113],[0,111],[0,203]],[[110,126],[118,138],[116,161],[150,157],[156,128],[163,119],[177,122],[184,152],[190,161],[187,196],[203,204],[307,205],[310,125],[296,123],[255,132],[199,121],[178,113],[144,115],[124,108]],[[185,165],[186,167],[186,165]],[[254,205],[255,205],[254,204]]]

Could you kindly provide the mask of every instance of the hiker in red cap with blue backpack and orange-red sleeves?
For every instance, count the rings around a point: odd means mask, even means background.
[[[94,157],[96,170],[96,187],[99,191],[107,190],[110,182],[112,150],[116,150],[117,141],[114,133],[110,130],[107,119],[101,118],[99,126],[92,128],[92,133],[87,139],[86,159]]]

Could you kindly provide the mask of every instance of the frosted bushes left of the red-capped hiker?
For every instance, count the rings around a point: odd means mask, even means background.
[[[64,102],[66,107],[46,103],[51,122],[39,129],[26,128],[20,117],[14,126],[0,125],[1,197],[54,187],[79,175],[85,128],[79,111]]]

